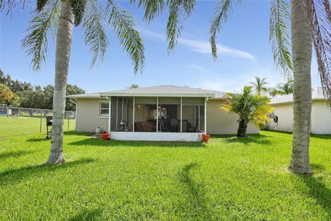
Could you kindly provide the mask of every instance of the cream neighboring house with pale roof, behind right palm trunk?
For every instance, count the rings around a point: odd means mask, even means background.
[[[293,95],[274,97],[272,122],[266,128],[276,131],[293,131]],[[331,134],[331,109],[328,99],[323,96],[322,88],[312,89],[312,117],[310,133]]]

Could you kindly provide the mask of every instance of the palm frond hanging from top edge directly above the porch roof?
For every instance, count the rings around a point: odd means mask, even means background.
[[[168,53],[174,50],[177,39],[183,30],[182,20],[190,17],[194,10],[195,0],[168,0],[169,17],[167,23]]]

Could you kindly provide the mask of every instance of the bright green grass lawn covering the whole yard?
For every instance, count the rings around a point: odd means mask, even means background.
[[[286,170],[291,135],[266,131],[208,144],[67,131],[67,164],[44,166],[50,140],[28,120],[0,117],[0,220],[331,220],[331,136],[312,136],[311,177]]]

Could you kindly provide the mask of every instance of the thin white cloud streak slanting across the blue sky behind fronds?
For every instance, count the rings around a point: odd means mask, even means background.
[[[148,37],[165,41],[165,36],[157,32],[152,32],[150,30],[143,30],[143,29],[140,29],[139,31],[147,35]],[[202,54],[211,54],[210,43],[208,41],[196,41],[191,39],[179,38],[177,43],[188,47],[190,50],[194,52],[199,52]],[[255,61],[255,58],[252,54],[250,54],[249,52],[245,52],[243,50],[237,50],[234,48],[230,48],[228,46],[223,46],[221,44],[217,45],[217,49],[219,55],[228,55],[230,57],[239,57],[239,58],[250,59],[251,61]]]

